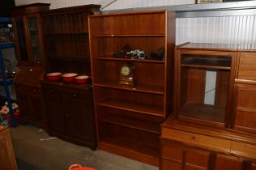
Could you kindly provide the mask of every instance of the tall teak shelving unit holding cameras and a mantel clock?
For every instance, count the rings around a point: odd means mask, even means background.
[[[147,11],[89,16],[94,106],[102,150],[158,165],[160,124],[171,112],[175,13]],[[124,45],[145,53],[164,48],[163,60],[113,57]],[[137,83],[118,83],[135,66]]]

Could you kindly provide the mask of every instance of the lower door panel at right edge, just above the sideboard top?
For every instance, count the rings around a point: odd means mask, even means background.
[[[237,110],[235,126],[256,132],[256,113]]]

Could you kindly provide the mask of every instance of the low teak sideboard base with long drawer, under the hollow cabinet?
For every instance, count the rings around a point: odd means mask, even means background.
[[[246,142],[245,142],[246,141]],[[184,125],[167,118],[161,130],[161,170],[253,170],[252,135]]]

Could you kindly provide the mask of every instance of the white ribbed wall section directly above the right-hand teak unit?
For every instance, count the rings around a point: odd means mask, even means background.
[[[176,19],[176,44],[256,44],[256,14]]]

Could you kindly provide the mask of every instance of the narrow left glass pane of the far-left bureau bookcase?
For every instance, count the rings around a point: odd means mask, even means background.
[[[15,19],[15,23],[16,23],[18,38],[19,38],[20,60],[26,62],[28,61],[28,52],[26,49],[24,22],[22,19]]]

